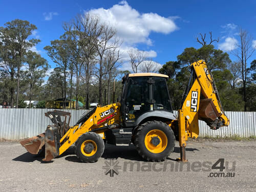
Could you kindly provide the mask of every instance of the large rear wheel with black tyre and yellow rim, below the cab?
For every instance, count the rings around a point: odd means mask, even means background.
[[[173,130],[161,121],[148,121],[139,126],[134,137],[139,155],[147,161],[164,161],[174,151]]]

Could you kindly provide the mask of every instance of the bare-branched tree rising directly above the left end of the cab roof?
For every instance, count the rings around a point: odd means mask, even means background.
[[[145,51],[140,51],[137,49],[131,49],[128,51],[132,70],[137,73],[139,65],[147,59],[147,53]]]

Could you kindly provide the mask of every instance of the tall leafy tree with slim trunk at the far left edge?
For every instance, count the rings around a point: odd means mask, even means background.
[[[23,66],[24,58],[28,50],[36,46],[39,39],[28,39],[36,26],[30,24],[27,20],[15,19],[5,24],[5,28],[0,28],[0,38],[4,45],[12,53],[11,60],[8,60],[8,65],[17,68],[16,71],[16,108],[19,102],[19,82],[20,82],[20,69]],[[11,67],[11,68],[12,68]]]

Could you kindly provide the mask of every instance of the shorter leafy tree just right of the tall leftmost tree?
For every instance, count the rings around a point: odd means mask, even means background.
[[[48,62],[42,58],[39,54],[28,51],[26,56],[26,62],[28,63],[27,70],[25,71],[26,80],[29,84],[29,108],[31,99],[33,97],[33,91],[35,87],[39,87],[44,82],[44,77],[48,69]]]

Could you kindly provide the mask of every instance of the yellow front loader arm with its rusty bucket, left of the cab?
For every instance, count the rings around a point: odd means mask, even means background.
[[[95,132],[105,139],[104,132],[120,124],[120,103],[97,106],[82,116],[73,126],[69,126],[70,113],[55,110],[45,115],[51,119],[53,125],[48,125],[45,133],[24,139],[20,141],[20,144],[31,154],[38,154],[42,148],[45,148],[43,161],[50,161],[64,153],[81,135],[87,132]],[[68,123],[66,123],[67,116],[69,116]],[[65,117],[65,120],[62,121],[61,117]]]

